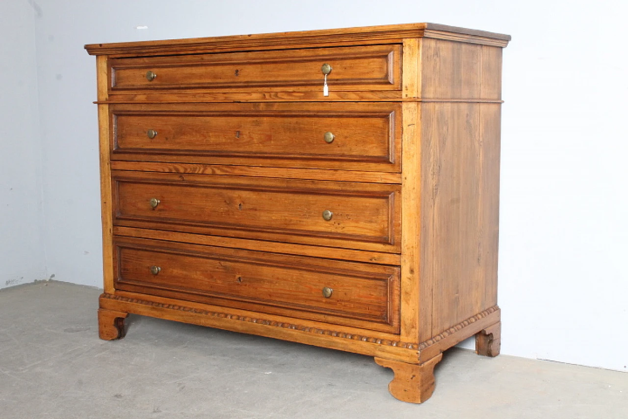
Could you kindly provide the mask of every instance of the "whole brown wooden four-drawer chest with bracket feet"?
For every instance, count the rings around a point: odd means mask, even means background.
[[[509,39],[417,23],[87,45],[100,337],[134,313],[357,352],[414,403],[449,347],[497,355]]]

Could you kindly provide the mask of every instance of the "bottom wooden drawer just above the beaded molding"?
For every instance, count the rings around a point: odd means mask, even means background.
[[[117,237],[115,288],[399,333],[399,267]]]

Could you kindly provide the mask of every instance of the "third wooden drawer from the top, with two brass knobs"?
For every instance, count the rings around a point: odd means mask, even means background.
[[[112,176],[114,225],[400,249],[401,186],[396,184],[123,171]],[[332,213],[330,220],[324,211]]]

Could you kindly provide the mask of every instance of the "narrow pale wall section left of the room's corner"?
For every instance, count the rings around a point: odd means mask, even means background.
[[[35,14],[0,1],[0,288],[46,279]]]

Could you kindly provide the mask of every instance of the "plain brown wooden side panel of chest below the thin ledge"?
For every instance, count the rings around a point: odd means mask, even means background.
[[[499,105],[422,104],[421,278],[431,335],[497,298]]]

